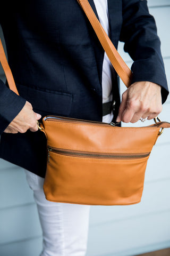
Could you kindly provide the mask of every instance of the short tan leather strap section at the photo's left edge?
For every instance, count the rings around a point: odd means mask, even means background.
[[[14,82],[14,78],[13,78],[11,69],[10,69],[10,67],[7,63],[7,59],[6,59],[6,56],[5,56],[5,52],[4,52],[4,49],[3,49],[1,39],[0,39],[0,61],[1,61],[1,65],[4,69],[4,73],[6,75],[6,79],[7,79],[8,85],[10,86],[10,89],[12,91],[14,91],[16,94],[19,95],[18,90],[16,89],[16,85],[15,85],[15,82]]]

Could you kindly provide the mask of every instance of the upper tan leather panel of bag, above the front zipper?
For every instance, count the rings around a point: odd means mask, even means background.
[[[159,127],[112,127],[86,124],[43,121],[48,145],[72,150],[145,153],[151,151]],[[57,145],[55,138],[57,137]]]

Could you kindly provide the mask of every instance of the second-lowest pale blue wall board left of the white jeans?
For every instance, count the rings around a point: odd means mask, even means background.
[[[0,245],[41,236],[35,204],[4,209],[0,214]]]

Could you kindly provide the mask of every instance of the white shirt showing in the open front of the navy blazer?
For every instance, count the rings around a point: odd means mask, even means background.
[[[109,36],[109,21],[108,21],[108,5],[107,0],[94,0],[96,10],[98,13],[99,21]],[[109,61],[106,53],[103,61],[102,71],[102,90],[103,90],[103,103],[112,101],[112,64]],[[103,122],[109,123],[113,119],[113,114],[108,114],[103,117]]]

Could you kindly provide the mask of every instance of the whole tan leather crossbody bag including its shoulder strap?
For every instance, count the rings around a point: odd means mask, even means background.
[[[129,87],[126,66],[87,0],[78,0],[117,74]],[[1,46],[10,89],[18,93]],[[88,205],[129,205],[141,201],[147,161],[168,122],[117,127],[62,116],[46,116],[39,129],[47,138],[46,199]],[[158,119],[159,121],[159,119]]]

